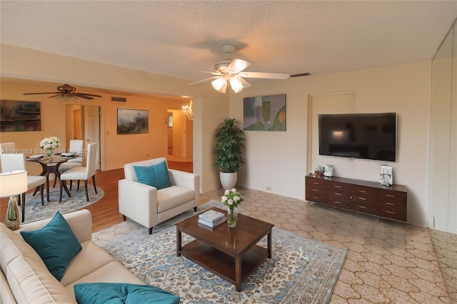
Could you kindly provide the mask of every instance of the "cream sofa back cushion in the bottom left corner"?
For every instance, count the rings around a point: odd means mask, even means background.
[[[21,238],[0,223],[0,262],[11,293],[17,303],[76,303],[73,293],[66,290],[49,273],[38,253]],[[2,289],[2,303],[11,303]]]

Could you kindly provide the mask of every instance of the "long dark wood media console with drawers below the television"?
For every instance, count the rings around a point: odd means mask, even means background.
[[[408,221],[406,186],[333,176],[305,178],[306,201],[345,208],[397,221]]]

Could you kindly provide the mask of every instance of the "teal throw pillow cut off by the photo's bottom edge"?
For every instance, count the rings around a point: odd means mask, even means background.
[[[128,283],[79,283],[73,286],[76,302],[84,304],[179,304],[179,296],[164,289]]]

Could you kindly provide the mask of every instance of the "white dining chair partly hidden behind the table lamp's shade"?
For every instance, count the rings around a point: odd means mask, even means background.
[[[21,153],[1,153],[2,172],[9,172],[15,170],[26,170],[26,159],[24,154]],[[46,183],[45,176],[31,176],[27,173],[27,191],[39,187],[41,194],[41,205],[44,205],[44,184]],[[20,198],[22,208],[22,222],[25,218],[26,207],[26,193],[22,193]]]

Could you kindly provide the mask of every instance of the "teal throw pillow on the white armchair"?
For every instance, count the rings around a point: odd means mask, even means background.
[[[134,166],[136,179],[139,183],[162,189],[171,186],[169,169],[166,168],[165,161],[152,166]]]

